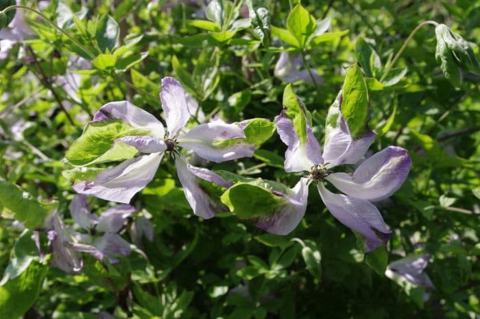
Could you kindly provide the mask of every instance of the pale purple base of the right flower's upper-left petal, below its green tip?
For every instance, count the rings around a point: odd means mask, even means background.
[[[307,143],[302,145],[291,119],[282,113],[275,118],[275,122],[280,139],[287,145],[285,172],[309,171],[313,165],[324,163],[322,149],[309,126],[307,126]]]

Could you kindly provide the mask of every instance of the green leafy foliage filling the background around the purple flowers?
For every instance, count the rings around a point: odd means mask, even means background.
[[[269,41],[264,39],[265,45],[252,41],[258,37],[250,27],[231,34],[232,21],[224,23],[226,27],[191,23],[204,19],[193,18],[202,11],[199,3],[51,1],[44,14],[87,49],[101,53],[95,59],[35,14],[24,12],[34,36],[0,60],[0,177],[44,202],[32,204],[31,213],[48,211],[52,204],[45,202],[55,200],[69,218],[73,191],[71,181],[62,175],[69,169],[62,162],[68,147],[106,102],[128,99],[160,117],[158,93],[164,76],[179,78],[206,115],[219,113],[226,121],[241,121],[273,119],[280,113],[286,83],[274,78],[274,65],[279,52],[289,47],[272,34]],[[36,1],[25,4],[38,6]],[[296,1],[253,4],[269,10],[270,25],[285,28]],[[154,241],[143,242],[144,253],[137,250],[107,270],[84,256],[84,270],[77,275],[50,267],[24,318],[97,318],[98,311],[142,319],[478,318],[480,78],[465,73],[463,84],[453,87],[435,62],[434,28],[427,25],[413,37],[391,78],[385,79],[394,83],[400,78],[399,82],[384,86],[379,80],[387,61],[422,21],[445,23],[480,43],[480,1],[342,0],[302,5],[315,19],[330,16],[329,32],[349,31],[307,45],[308,63],[324,82],[317,88],[298,82],[293,90],[312,113],[315,135],[322,141],[326,112],[344,82],[344,70],[355,62],[361,65],[370,97],[369,126],[379,134],[371,150],[399,145],[413,160],[405,185],[381,208],[393,232],[389,261],[405,253],[429,252],[427,273],[436,287],[428,292],[429,300],[424,301],[422,288],[404,289],[370,268],[355,235],[328,213],[313,187],[304,219],[293,233],[281,237],[232,214],[211,220],[196,217],[175,168],[162,165],[132,202],[155,226]],[[246,6],[242,10],[248,12]],[[80,14],[74,18],[71,12]],[[219,21],[228,19],[210,14]],[[118,23],[121,47],[105,36],[109,23]],[[475,53],[478,56],[477,47]],[[91,70],[80,72],[79,100],[56,82],[73,69],[69,59],[77,56],[93,60]],[[25,121],[23,132],[13,134],[12,124],[18,120]],[[208,167],[293,187],[298,176],[284,172],[284,152],[274,134],[254,158]],[[19,190],[3,188],[2,215],[12,217],[4,198],[19,196]],[[89,203],[93,211],[108,206],[94,198]],[[7,268],[10,250],[21,235],[11,224],[9,219],[0,221],[1,270]],[[128,239],[128,234],[124,236]],[[45,244],[46,238],[42,240]],[[45,276],[37,260],[29,262],[35,266],[29,270]],[[2,294],[4,290],[0,302]],[[11,303],[23,302],[8,303],[14,309]]]

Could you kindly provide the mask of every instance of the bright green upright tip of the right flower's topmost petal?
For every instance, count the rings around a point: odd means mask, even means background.
[[[343,99],[341,114],[344,115],[352,137],[358,138],[368,129],[368,100],[367,84],[357,64],[346,69],[346,78],[342,88]]]

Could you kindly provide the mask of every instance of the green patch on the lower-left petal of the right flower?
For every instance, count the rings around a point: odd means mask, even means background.
[[[220,199],[242,220],[274,214],[281,206],[288,204],[287,199],[248,182],[233,185]]]

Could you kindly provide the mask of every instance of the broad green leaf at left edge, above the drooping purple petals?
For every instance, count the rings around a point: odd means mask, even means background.
[[[0,178],[0,209],[2,215],[12,214],[25,227],[34,229],[45,224],[49,211],[20,187]]]

